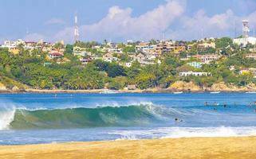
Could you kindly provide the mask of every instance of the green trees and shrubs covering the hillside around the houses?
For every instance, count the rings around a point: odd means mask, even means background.
[[[150,41],[156,44],[156,41]],[[200,53],[223,53],[226,57],[204,64],[203,68],[193,68],[187,62],[180,60],[181,57],[191,55],[191,52],[181,52],[180,56],[171,52],[165,53],[161,58],[161,64],[141,66],[137,61],[132,67],[126,68],[118,63],[109,63],[103,60],[94,60],[83,66],[73,56],[73,46],[88,48],[91,52],[93,46],[98,45],[95,41],[83,43],[78,41],[75,45],[61,45],[57,43],[54,48],[65,48],[65,57],[68,62],[57,64],[56,60],[49,60],[47,52],[40,49],[29,52],[20,47],[20,53],[14,55],[7,49],[0,49],[0,83],[8,88],[18,86],[19,88],[32,87],[35,89],[100,89],[109,88],[113,90],[123,89],[130,84],[135,84],[140,89],[153,87],[167,88],[175,81],[194,82],[201,87],[211,87],[214,83],[224,82],[237,87],[246,86],[256,80],[252,73],[240,74],[241,68],[255,68],[256,61],[244,57],[247,50],[234,49],[232,41],[224,37],[216,40],[216,49],[196,50]],[[135,52],[135,45],[120,45],[124,53],[120,55],[121,62],[132,61],[128,53]],[[248,45],[248,47],[251,47]],[[231,49],[232,48],[232,49]],[[234,67],[234,69],[230,69]],[[211,72],[211,76],[187,76],[180,77],[179,72]]]

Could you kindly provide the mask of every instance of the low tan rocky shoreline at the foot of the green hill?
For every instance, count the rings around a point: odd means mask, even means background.
[[[0,83],[0,93],[108,93],[108,89],[94,89],[94,90],[61,90],[61,89],[52,89],[52,90],[42,90],[42,89],[33,89],[33,88],[19,88],[14,86],[12,89],[6,88],[5,85]],[[145,90],[135,89],[135,90],[112,90],[113,92],[120,93],[173,93],[173,92],[190,92],[190,93],[199,93],[199,92],[211,92],[211,91],[221,91],[221,92],[254,92],[256,91],[256,86],[254,84],[247,85],[246,87],[235,87],[233,85],[226,85],[225,83],[214,83],[211,87],[200,87],[199,85],[193,82],[183,82],[177,81],[172,83],[170,87],[167,88],[148,88]]]

